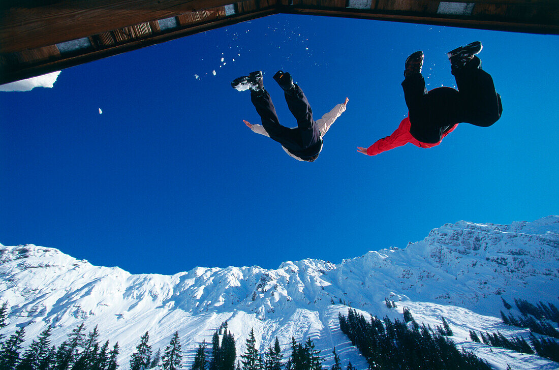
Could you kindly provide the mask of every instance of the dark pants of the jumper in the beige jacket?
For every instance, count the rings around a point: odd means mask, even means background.
[[[280,125],[276,108],[266,90],[251,92],[250,99],[262,118],[262,126],[271,139],[276,140],[292,154],[302,159],[319,153],[322,145],[320,131],[312,119],[309,101],[299,86],[295,85],[295,88],[285,93],[287,107],[297,120],[297,127],[293,129]]]

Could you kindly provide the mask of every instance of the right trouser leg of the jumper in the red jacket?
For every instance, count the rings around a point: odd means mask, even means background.
[[[481,60],[474,58],[463,68],[453,68],[461,101],[461,121],[488,127],[501,117],[501,97],[495,91],[491,75],[481,69]]]

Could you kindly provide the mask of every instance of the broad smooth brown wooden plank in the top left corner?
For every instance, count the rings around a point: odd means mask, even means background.
[[[0,53],[54,45],[231,0],[2,0]]]

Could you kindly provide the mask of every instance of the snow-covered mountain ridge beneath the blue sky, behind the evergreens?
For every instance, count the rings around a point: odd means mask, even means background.
[[[405,248],[368,252],[340,264],[304,259],[277,269],[197,267],[173,276],[97,267],[54,248],[0,245],[0,301],[10,308],[2,333],[26,325],[31,340],[55,324],[52,338],[58,344],[81,322],[88,329],[98,325],[101,339],[119,341],[119,363],[126,368],[146,330],[154,350],[178,330],[190,364],[197,344],[211,341],[228,320],[238,354],[254,328],[260,350],[277,336],[287,355],[291,336],[299,341],[310,336],[326,366],[335,345],[343,366],[350,360],[363,369],[366,362],[339,330],[338,312],[346,314],[351,306],[401,317],[409,307],[425,324],[440,325],[444,316],[452,338],[495,368],[556,369],[557,363],[535,355],[473,343],[468,331],[527,334],[501,322],[501,297],[559,305],[558,276],[559,216],[511,225],[459,221]],[[397,309],[385,305],[386,297]]]

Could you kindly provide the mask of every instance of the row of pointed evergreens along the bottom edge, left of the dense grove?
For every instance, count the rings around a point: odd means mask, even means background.
[[[7,303],[0,307],[0,329],[7,326]],[[0,370],[117,370],[119,343],[110,348],[109,341],[101,343],[97,326],[86,333],[82,323],[73,329],[68,338],[58,347],[51,344],[53,326],[46,328],[25,350],[25,327],[21,326],[4,340],[0,336]],[[246,350],[237,360],[235,337],[228,330],[227,321],[216,329],[209,346],[202,341],[196,349],[190,366],[183,363],[183,354],[178,331],[161,353],[153,352],[149,344],[149,332],[141,336],[135,352],[130,355],[130,370],[324,370],[320,351],[310,338],[304,343],[291,339],[291,354],[283,362],[278,338],[268,345],[263,354],[256,347],[254,330],[245,342]],[[334,352],[339,366],[339,357]],[[333,370],[340,370],[334,368]],[[349,364],[347,370],[354,370]]]

